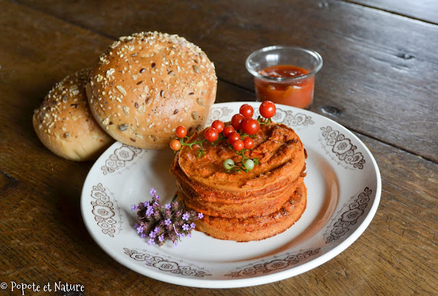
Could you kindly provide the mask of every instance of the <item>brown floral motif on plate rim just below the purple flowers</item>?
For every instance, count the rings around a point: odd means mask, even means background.
[[[155,267],[160,271],[166,271],[179,275],[194,276],[194,277],[206,277],[211,274],[203,268],[196,267],[194,264],[188,264],[183,260],[177,260],[174,258],[164,259],[156,254],[149,254],[148,251],[137,251],[136,249],[123,248],[125,254],[137,261],[144,261],[149,267]],[[179,262],[176,262],[179,261]],[[182,263],[182,264],[181,264]]]

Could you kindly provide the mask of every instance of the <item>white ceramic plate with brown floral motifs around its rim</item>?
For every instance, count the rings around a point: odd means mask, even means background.
[[[248,102],[258,112],[259,103]],[[242,102],[211,108],[209,123],[231,120]],[[257,114],[255,114],[257,115]],[[255,286],[309,271],[337,256],[370,224],[381,197],[381,176],[370,151],[345,127],[324,116],[277,105],[274,122],[294,128],[307,149],[307,209],[289,230],[237,243],[192,232],[179,247],[149,246],[133,225],[131,205],[175,195],[170,149],[115,143],[96,161],[81,196],[83,221],[114,260],[156,280],[203,288]]]

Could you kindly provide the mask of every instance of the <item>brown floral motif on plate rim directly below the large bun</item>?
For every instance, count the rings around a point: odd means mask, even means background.
[[[110,155],[110,157],[105,161],[105,165],[101,167],[103,171],[103,175],[107,173],[114,173],[116,170],[120,168],[127,168],[127,164],[133,164],[133,160],[139,156],[142,151],[146,151],[137,147],[132,147],[126,144],[123,144],[121,147],[118,147],[114,150],[114,153]]]

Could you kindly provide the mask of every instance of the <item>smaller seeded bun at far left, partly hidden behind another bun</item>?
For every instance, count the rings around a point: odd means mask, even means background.
[[[68,160],[97,158],[114,140],[90,112],[85,86],[90,69],[58,82],[34,111],[34,129],[53,153]]]

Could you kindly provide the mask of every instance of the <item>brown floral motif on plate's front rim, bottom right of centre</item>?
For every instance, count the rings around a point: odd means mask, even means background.
[[[281,256],[274,256],[272,258],[263,259],[256,264],[251,263],[249,266],[240,267],[240,270],[231,271],[225,276],[230,277],[246,277],[250,275],[256,275],[257,273],[270,273],[272,271],[279,271],[279,269],[286,269],[297,263],[303,262],[309,259],[310,256],[318,254],[320,248],[310,249],[308,251],[300,251],[294,253],[286,253]],[[272,260],[274,259],[274,260]],[[266,262],[268,261],[268,262]]]

